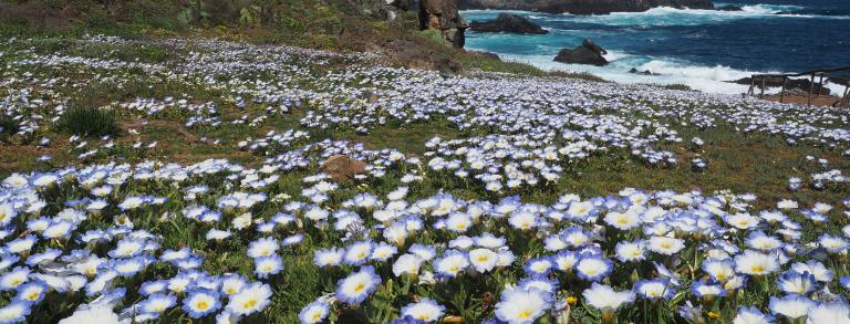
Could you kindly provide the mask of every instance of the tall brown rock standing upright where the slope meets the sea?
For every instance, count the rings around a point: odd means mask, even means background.
[[[455,0],[419,0],[419,29],[437,30],[444,40],[460,49],[466,43],[467,28]]]

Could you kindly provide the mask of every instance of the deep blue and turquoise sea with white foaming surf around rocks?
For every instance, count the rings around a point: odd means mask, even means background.
[[[546,35],[476,33],[469,50],[545,70],[590,72],[625,83],[681,83],[713,93],[738,94],[746,85],[725,81],[759,72],[804,72],[850,65],[850,0],[732,0],[737,12],[655,8],[605,15],[510,11],[542,25]],[[494,10],[463,11],[467,21],[495,19]],[[776,14],[790,12],[791,14]],[[602,66],[563,64],[552,59],[563,48],[591,39],[608,50]],[[628,73],[632,67],[661,74]],[[843,86],[830,85],[833,91]]]

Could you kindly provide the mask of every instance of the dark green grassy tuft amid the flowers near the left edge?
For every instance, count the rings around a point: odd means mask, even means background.
[[[118,133],[115,112],[95,107],[73,107],[58,122],[59,129],[85,136],[104,136]]]

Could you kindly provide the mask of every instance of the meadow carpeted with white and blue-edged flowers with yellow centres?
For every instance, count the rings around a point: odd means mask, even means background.
[[[0,323],[850,323],[847,111],[0,44]]]

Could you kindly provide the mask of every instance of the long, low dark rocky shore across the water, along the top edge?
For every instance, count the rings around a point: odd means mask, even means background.
[[[457,0],[460,10],[500,9],[549,13],[605,14],[639,12],[655,7],[714,9],[712,0]]]

